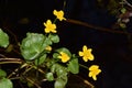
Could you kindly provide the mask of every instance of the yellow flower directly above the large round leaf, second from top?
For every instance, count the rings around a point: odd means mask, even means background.
[[[44,23],[45,25],[45,33],[56,33],[56,24],[53,24],[51,20],[47,20],[46,23]]]

